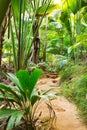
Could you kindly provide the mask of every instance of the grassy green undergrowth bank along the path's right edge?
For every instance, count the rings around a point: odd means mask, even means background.
[[[73,65],[70,80],[62,82],[61,92],[69,100],[76,103],[80,109],[80,115],[87,122],[87,67],[85,65]]]

